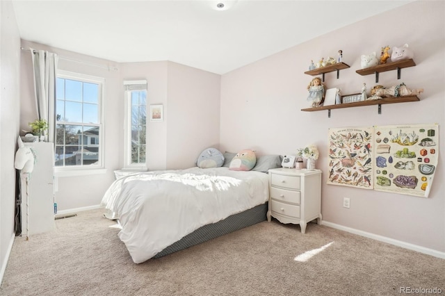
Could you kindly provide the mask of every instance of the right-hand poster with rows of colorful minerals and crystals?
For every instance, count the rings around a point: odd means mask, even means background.
[[[439,126],[374,126],[374,189],[428,197],[439,158]]]

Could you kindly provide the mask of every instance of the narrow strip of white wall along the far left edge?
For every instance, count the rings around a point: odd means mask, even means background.
[[[14,156],[19,132],[20,37],[11,1],[0,1],[0,283],[14,239]]]

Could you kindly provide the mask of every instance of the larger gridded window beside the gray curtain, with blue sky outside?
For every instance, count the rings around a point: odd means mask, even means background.
[[[56,167],[102,167],[104,79],[59,71],[56,81]]]

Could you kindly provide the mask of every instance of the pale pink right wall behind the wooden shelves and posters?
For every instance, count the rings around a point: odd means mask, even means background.
[[[327,177],[327,131],[330,127],[388,124],[438,123],[439,145],[444,143],[445,22],[443,1],[416,1],[351,26],[346,26],[304,44],[282,51],[221,79],[220,148],[239,151],[257,149],[259,154],[295,154],[314,143],[320,150],[316,166]],[[304,30],[310,29],[302,28]],[[298,29],[296,28],[296,34]],[[378,84],[401,82],[409,88],[424,88],[421,101],[377,106],[302,112],[309,108],[307,85],[313,78],[304,74],[310,61],[337,57],[349,69],[325,76],[325,88],[341,88],[343,94],[369,89],[375,76],[360,76],[359,56],[380,52],[380,47],[408,43],[414,49],[416,67],[380,74]],[[322,186],[322,214],[328,222],[445,252],[444,156],[439,155],[435,182],[428,199],[343,186]],[[350,197],[350,208],[343,208]]]

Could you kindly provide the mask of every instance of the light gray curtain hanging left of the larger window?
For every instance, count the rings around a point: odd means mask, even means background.
[[[31,48],[30,48],[31,49]],[[35,106],[39,120],[47,120],[45,140],[54,142],[56,129],[56,69],[58,56],[48,51],[31,49],[34,69]]]

